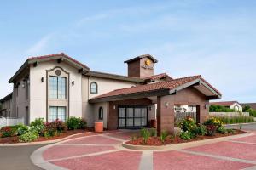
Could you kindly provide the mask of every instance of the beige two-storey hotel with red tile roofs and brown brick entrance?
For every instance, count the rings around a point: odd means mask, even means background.
[[[201,76],[155,75],[157,62],[149,54],[126,60],[128,75],[120,76],[90,71],[63,53],[31,57],[9,79],[14,84],[11,116],[25,117],[26,123],[77,116],[90,127],[102,121],[110,130],[146,127],[157,118],[158,133],[172,133],[174,107],[188,105],[203,122],[209,99],[221,99],[218,90]]]

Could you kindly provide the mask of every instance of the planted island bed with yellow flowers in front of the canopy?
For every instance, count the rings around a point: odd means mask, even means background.
[[[155,135],[155,129],[143,128],[140,136],[131,137],[126,144],[160,146],[245,133],[238,129],[225,129],[223,122],[216,117],[207,118],[203,124],[196,124],[194,119],[187,117],[180,122],[179,127],[181,128],[179,134],[169,135],[162,132],[159,137]]]

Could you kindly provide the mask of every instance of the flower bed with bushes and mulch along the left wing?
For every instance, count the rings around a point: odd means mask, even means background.
[[[70,117],[67,122],[56,119],[44,122],[39,118],[31,122],[30,126],[22,124],[2,127],[0,129],[0,144],[15,144],[47,141],[65,138],[69,135],[84,133],[86,122],[82,118]]]

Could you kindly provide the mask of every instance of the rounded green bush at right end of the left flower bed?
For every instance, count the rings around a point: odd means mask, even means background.
[[[67,119],[67,128],[69,130],[75,130],[75,129],[83,129],[86,127],[86,121],[82,118],[76,118],[76,117],[69,117]]]

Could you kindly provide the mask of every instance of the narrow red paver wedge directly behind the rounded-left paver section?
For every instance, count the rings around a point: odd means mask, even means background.
[[[119,144],[121,143],[119,140],[115,139],[108,139],[106,137],[96,135],[96,136],[89,136],[87,138],[81,139],[73,139],[62,144]]]

